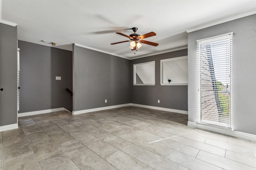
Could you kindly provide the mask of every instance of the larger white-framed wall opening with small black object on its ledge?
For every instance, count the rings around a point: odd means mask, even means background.
[[[188,85],[188,56],[165,59],[160,63],[161,85]]]

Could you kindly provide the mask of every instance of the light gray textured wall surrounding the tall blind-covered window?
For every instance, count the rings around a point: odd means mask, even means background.
[[[233,32],[232,129],[256,135],[256,15],[188,33],[188,121],[196,122],[196,40]]]

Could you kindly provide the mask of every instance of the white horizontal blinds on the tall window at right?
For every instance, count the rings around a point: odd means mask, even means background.
[[[231,127],[232,36],[197,41],[197,123]]]

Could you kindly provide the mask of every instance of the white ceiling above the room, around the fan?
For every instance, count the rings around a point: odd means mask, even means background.
[[[1,1],[1,0],[0,0]],[[184,49],[187,30],[256,14],[256,0],[2,0],[1,21],[18,25],[18,40],[72,51],[72,43],[127,59]],[[136,54],[128,28],[155,32]],[[42,40],[48,41],[43,43]]]

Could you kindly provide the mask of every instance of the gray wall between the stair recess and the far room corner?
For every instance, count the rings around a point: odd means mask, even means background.
[[[130,82],[129,60],[73,45],[74,111],[130,103]]]

